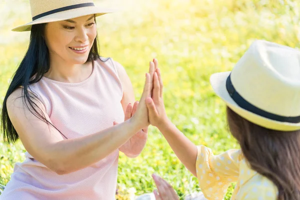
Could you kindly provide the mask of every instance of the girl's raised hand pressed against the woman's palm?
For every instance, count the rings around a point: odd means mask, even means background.
[[[160,70],[159,68],[156,68],[153,74],[152,95],[151,97],[146,98],[146,105],[148,108],[148,117],[150,124],[158,128],[160,125],[165,124],[168,120],[163,103],[162,88],[163,84]]]

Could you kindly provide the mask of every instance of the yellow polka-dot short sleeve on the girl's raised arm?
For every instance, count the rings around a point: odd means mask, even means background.
[[[213,155],[210,148],[197,146],[196,172],[199,186],[207,199],[222,199],[239,174],[240,149]]]

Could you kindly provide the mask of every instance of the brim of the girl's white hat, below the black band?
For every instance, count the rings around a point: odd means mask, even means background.
[[[300,123],[289,123],[272,120],[265,118],[246,109],[241,108],[235,103],[230,97],[226,89],[226,79],[229,76],[230,71],[214,73],[210,76],[210,84],[214,92],[225,101],[226,105],[230,107],[234,112],[242,116],[243,118],[260,125],[265,128],[281,130],[281,131],[292,131],[300,129]]]

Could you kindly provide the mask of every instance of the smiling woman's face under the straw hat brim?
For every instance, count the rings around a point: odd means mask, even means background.
[[[96,34],[93,14],[47,23],[45,41],[50,60],[69,64],[85,63]]]

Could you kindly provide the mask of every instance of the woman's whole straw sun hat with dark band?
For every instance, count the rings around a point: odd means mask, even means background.
[[[60,21],[79,16],[113,12],[114,9],[96,7],[92,0],[29,0],[32,21],[13,28],[13,31],[28,31],[31,25]]]

